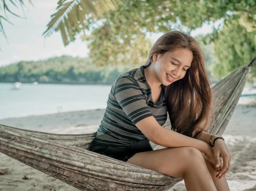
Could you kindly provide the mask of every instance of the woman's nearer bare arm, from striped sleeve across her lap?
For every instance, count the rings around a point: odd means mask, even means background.
[[[163,147],[194,147],[204,153],[211,148],[204,141],[162,127],[153,116],[142,119],[135,125],[150,141]]]

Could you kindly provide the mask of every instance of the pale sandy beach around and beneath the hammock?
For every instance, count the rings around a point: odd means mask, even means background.
[[[96,132],[105,109],[59,112],[0,120],[11,127],[65,134]],[[231,168],[226,179],[231,191],[256,190],[256,103],[237,105],[222,137],[231,153]],[[8,168],[0,175],[1,191],[78,191],[32,167],[0,153],[0,168]],[[169,191],[183,191],[184,181]]]

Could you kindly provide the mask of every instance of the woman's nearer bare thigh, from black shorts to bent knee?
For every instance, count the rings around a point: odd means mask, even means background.
[[[202,153],[194,147],[175,147],[136,153],[127,163],[176,178],[194,163],[205,163]]]

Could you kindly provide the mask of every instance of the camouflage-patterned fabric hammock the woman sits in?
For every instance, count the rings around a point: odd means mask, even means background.
[[[222,135],[255,62],[256,58],[212,87],[211,123],[215,125],[205,131]],[[171,129],[168,116],[163,127]],[[88,151],[95,135],[45,133],[0,124],[0,152],[86,191],[162,191],[183,180]],[[165,148],[151,145],[154,150]]]

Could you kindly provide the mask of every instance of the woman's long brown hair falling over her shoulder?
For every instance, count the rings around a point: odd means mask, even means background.
[[[191,50],[193,60],[184,78],[169,86],[162,84],[171,129],[197,139],[210,124],[212,111],[211,82],[205,69],[205,56],[200,43],[184,32],[167,32],[155,42],[144,66],[152,63],[153,54],[163,55],[178,49]]]

